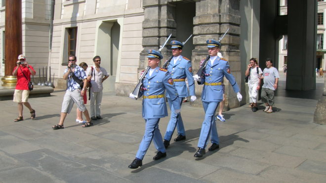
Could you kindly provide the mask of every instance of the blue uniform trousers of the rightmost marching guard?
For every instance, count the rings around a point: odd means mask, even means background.
[[[202,125],[201,135],[199,137],[198,147],[205,148],[207,146],[210,135],[211,143],[219,144],[216,123],[214,120],[215,111],[219,102],[204,102],[205,119]]]

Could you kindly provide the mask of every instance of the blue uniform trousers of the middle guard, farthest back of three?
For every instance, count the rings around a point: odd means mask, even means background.
[[[182,104],[184,97],[180,97],[180,107]],[[172,105],[171,99],[167,98],[170,110],[171,110],[171,114],[170,114],[170,121],[167,124],[166,127],[166,132],[165,132],[165,136],[164,136],[164,140],[170,141],[172,138],[172,134],[175,130],[175,127],[177,127],[178,130],[178,135],[183,135],[185,136],[185,127],[183,126],[183,121],[182,121],[182,117],[181,117],[181,113],[176,114],[174,112],[174,107]]]

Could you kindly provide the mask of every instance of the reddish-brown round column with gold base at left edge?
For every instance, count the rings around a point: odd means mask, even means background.
[[[15,86],[16,79],[12,70],[19,54],[22,54],[22,1],[5,2],[5,76],[2,86]]]

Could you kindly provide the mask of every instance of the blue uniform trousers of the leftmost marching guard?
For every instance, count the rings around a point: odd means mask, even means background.
[[[154,141],[155,148],[161,152],[165,152],[162,135],[159,129],[160,118],[145,119],[145,122],[145,134],[136,154],[136,158],[140,160],[143,160],[148,147],[151,145],[152,139]]]

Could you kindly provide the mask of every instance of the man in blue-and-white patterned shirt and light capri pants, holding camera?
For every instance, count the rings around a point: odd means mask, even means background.
[[[68,68],[65,69],[63,73],[63,79],[68,79],[67,91],[63,97],[60,122],[57,125],[52,126],[53,130],[64,128],[63,122],[67,116],[67,113],[72,110],[74,103],[77,104],[78,109],[81,110],[86,117],[87,122],[82,125],[82,127],[89,127],[93,125],[82,99],[82,96],[86,95],[85,88],[87,86],[87,76],[82,67],[76,65],[76,61],[77,57],[75,55],[69,55]]]

